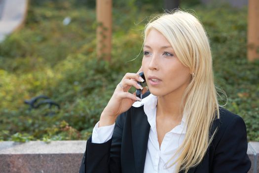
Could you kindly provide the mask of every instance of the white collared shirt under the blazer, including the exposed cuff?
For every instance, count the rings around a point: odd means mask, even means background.
[[[148,117],[148,123],[150,125],[144,173],[175,173],[176,165],[170,168],[166,167],[169,167],[170,164],[172,164],[177,158],[174,158],[174,160],[170,161],[168,165],[166,165],[166,163],[176,153],[177,149],[184,140],[186,132],[185,115],[183,116],[180,125],[176,126],[165,134],[159,148],[156,131],[157,97],[149,94],[147,97],[142,99],[142,101],[135,102],[132,106],[140,107],[142,105],[144,105],[144,112]],[[99,122],[95,125],[93,129],[92,142],[107,142],[109,139],[111,139],[115,123],[111,126],[100,128],[98,128],[98,125]]]

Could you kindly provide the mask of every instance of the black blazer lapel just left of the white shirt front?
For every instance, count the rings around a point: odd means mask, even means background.
[[[135,114],[132,115],[132,142],[136,172],[143,173],[148,148],[150,125],[148,123],[148,118],[144,112],[143,106],[139,107],[138,109],[140,110],[134,111]]]

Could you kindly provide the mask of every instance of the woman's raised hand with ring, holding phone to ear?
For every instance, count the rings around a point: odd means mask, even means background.
[[[140,71],[141,69],[139,72]],[[100,117],[99,127],[112,125],[118,115],[127,111],[135,101],[141,101],[141,99],[136,96],[135,92],[133,94],[128,92],[132,86],[137,89],[142,89],[143,94],[147,91],[147,88],[142,88],[138,85],[137,81],[144,82],[138,73],[126,73],[121,82],[115,88],[110,101],[103,110]]]

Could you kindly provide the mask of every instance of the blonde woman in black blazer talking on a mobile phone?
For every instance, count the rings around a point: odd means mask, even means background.
[[[154,18],[143,49],[149,91],[138,73],[123,77],[87,141],[80,173],[247,173],[246,126],[219,106],[197,18],[180,10]]]

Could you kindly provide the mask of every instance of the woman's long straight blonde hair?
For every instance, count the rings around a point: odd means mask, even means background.
[[[178,59],[195,74],[181,104],[186,116],[185,139],[167,162],[177,158],[170,166],[176,164],[178,172],[187,173],[205,156],[216,132],[210,134],[213,120],[220,116],[209,40],[199,20],[181,10],[151,20],[144,31],[144,43],[151,29],[159,31],[171,43]]]

